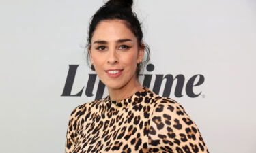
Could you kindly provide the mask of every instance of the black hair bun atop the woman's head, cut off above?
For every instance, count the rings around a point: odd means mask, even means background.
[[[112,7],[112,8],[132,8],[132,0],[109,0],[106,2],[106,7]]]

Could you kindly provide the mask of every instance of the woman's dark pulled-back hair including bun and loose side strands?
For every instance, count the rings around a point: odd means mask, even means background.
[[[147,44],[142,44],[143,33],[141,31],[141,23],[139,22],[137,15],[132,12],[132,0],[109,0],[105,3],[100,9],[91,17],[91,22],[89,24],[89,31],[87,37],[87,48],[91,49],[91,37],[94,34],[94,31],[102,20],[125,20],[128,27],[134,33],[135,37],[137,37],[138,46],[140,48],[144,48],[145,52],[147,52],[147,58],[145,61],[137,64],[136,74],[139,76],[139,72],[141,67],[143,67],[150,60],[150,48]],[[90,51],[87,52],[87,64],[89,65],[89,54]],[[95,71],[94,65],[91,65],[91,70]]]

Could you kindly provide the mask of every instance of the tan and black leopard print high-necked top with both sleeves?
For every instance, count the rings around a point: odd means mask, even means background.
[[[68,123],[66,153],[208,152],[182,105],[143,87],[134,95],[76,107]]]

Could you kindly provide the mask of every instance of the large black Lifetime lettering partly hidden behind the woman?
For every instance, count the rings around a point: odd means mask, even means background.
[[[76,76],[76,70],[79,67],[79,65],[69,65],[69,69],[68,69],[68,75],[66,78],[66,83],[65,86],[63,88],[63,92],[62,95],[63,97],[81,97],[83,94],[83,90],[85,87],[83,87],[80,92],[78,92],[75,95],[71,95],[72,92],[72,87],[74,84],[74,78]],[[148,64],[146,67],[148,72],[152,72],[154,71],[154,65],[153,64]],[[154,74],[156,76],[155,80],[154,80],[154,86],[153,86],[153,91],[159,95],[160,89],[163,88],[163,93],[162,93],[162,97],[169,97],[171,95],[171,89],[173,87],[173,82],[174,80],[176,80],[176,86],[174,88],[174,95],[175,97],[183,97],[184,95],[182,95],[182,90],[185,89],[186,95],[188,97],[191,98],[195,98],[195,97],[199,97],[199,95],[201,95],[201,92],[199,93],[195,93],[193,91],[193,88],[195,88],[195,86],[200,86],[201,84],[203,84],[205,78],[203,75],[201,74],[196,74],[193,75],[192,77],[190,77],[188,79],[188,81],[185,84],[185,76],[182,74],[176,75],[175,78],[173,77],[173,75],[171,74]],[[152,76],[153,74],[140,74],[139,77],[144,76],[143,79],[143,86],[149,88],[150,84],[152,82]],[[92,73],[89,74],[89,79],[87,82],[87,86],[85,88],[85,95],[87,97],[93,97],[94,93],[94,86],[96,84],[96,77],[97,74],[96,73]],[[197,79],[198,78],[198,79]],[[165,80],[165,86],[162,86],[162,82]],[[197,80],[197,81],[196,81]],[[103,94],[104,94],[104,90],[105,90],[105,85],[99,81],[98,82],[98,88],[96,91],[96,95],[95,95],[95,99],[102,99]]]

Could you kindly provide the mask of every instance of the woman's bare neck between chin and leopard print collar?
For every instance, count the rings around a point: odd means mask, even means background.
[[[127,97],[130,97],[135,92],[141,90],[143,86],[139,83],[138,80],[134,82],[134,84],[126,84],[125,86],[122,86],[121,88],[109,88],[109,96],[111,97],[111,101],[119,101],[122,99],[126,99]]]

